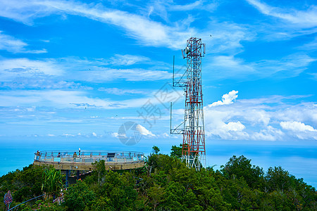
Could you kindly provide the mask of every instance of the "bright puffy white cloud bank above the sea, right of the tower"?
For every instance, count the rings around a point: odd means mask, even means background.
[[[271,96],[241,99],[233,103],[232,99],[236,99],[234,93],[223,95],[222,101],[204,108],[206,136],[213,139],[259,141],[317,139],[317,130],[300,122],[317,125],[317,106],[313,103],[285,103],[285,100],[305,96]]]

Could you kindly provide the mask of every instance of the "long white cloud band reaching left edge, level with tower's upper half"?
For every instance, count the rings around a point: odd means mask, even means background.
[[[104,62],[104,60],[99,59],[2,59],[0,60],[0,81],[8,82],[21,77],[38,78],[43,75],[54,77],[60,77],[63,75],[63,79],[95,83],[108,82],[118,79],[125,79],[127,81],[154,81],[170,79],[170,73],[165,70],[155,70],[154,68],[114,69],[107,68],[105,65],[108,65],[108,61]]]

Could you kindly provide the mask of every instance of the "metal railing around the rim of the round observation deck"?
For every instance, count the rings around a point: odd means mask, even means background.
[[[105,160],[106,163],[143,162],[144,153],[127,151],[38,151],[35,161],[58,163],[92,163]]]

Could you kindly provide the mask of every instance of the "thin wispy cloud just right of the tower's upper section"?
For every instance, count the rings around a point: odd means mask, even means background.
[[[206,61],[206,69],[213,70],[209,77],[254,80],[265,77],[296,77],[317,58],[305,53],[294,53],[277,60],[259,60],[247,63],[235,56],[215,56]]]

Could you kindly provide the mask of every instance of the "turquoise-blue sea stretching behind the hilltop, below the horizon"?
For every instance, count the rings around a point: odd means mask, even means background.
[[[27,137],[25,139],[0,139],[2,145],[0,175],[17,169],[22,170],[32,164],[34,153],[38,151],[139,151],[145,155],[152,152],[153,146],[158,146],[160,153],[170,153],[173,145],[179,146],[180,139],[141,139],[134,146],[126,146],[119,139],[78,139],[68,137],[59,139],[37,139]],[[206,140],[206,164],[213,166],[214,170],[219,170],[221,165],[232,157],[232,155],[244,155],[251,159],[252,165],[263,167],[264,171],[268,167],[281,166],[284,170],[290,172],[297,179],[303,178],[304,181],[317,187],[317,158],[316,145],[294,142],[290,143],[273,141],[209,141]]]

